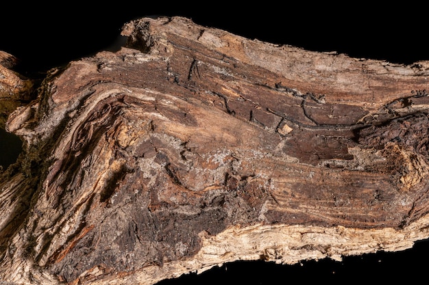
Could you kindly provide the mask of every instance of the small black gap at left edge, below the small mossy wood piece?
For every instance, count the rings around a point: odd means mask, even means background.
[[[19,137],[0,128],[0,165],[3,169],[16,162],[22,146],[23,142]]]

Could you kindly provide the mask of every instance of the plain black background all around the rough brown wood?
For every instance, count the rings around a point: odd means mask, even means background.
[[[97,6],[68,1],[8,1],[7,7],[0,4],[0,50],[19,57],[21,63],[16,69],[21,74],[42,77],[49,68],[108,49],[127,21],[161,15],[186,16],[199,25],[311,51],[337,51],[397,64],[428,60],[429,23],[424,5],[388,3],[105,1]],[[16,146],[19,142],[6,140],[0,132],[0,165],[14,161]],[[304,284],[370,280],[411,283],[425,279],[428,256],[429,241],[420,241],[403,252],[350,256],[342,262],[233,262],[201,275],[184,275],[160,284],[236,284],[237,279],[241,284],[289,284],[295,280]]]

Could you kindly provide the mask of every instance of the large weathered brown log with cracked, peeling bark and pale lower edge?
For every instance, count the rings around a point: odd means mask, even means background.
[[[0,277],[154,284],[429,236],[429,63],[247,40],[186,18],[54,70],[9,117]]]

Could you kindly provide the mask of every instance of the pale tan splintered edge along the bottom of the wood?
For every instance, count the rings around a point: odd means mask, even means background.
[[[212,267],[237,260],[266,260],[277,264],[295,264],[301,260],[332,258],[341,261],[343,256],[369,254],[378,251],[396,252],[413,247],[415,241],[429,236],[429,215],[411,223],[402,230],[393,228],[362,230],[334,226],[330,228],[299,225],[262,224],[241,228],[233,226],[209,236],[201,232],[202,247],[190,260],[167,262],[162,267],[145,267],[128,275],[108,276],[94,280],[91,285],[103,284],[155,284],[161,280],[180,277],[182,274],[202,273]],[[14,264],[21,271],[32,271],[43,284],[59,284],[54,276],[34,271],[32,264]],[[102,267],[94,267],[82,275],[101,275]],[[19,282],[19,278],[16,282]]]

